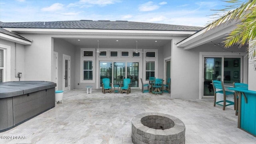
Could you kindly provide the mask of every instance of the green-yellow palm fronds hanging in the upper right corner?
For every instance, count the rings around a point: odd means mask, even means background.
[[[239,0],[228,0],[230,6],[222,10],[217,10],[217,20],[214,20],[208,25],[208,29],[215,28],[220,24],[239,20],[237,28],[232,30],[226,40],[224,41],[225,48],[234,44],[243,46],[250,42],[250,47],[247,48],[248,58],[250,64],[254,64],[256,70],[256,0],[246,0],[241,2]],[[224,14],[223,14],[224,13]]]

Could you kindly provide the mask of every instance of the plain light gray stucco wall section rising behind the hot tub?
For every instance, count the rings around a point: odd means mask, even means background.
[[[25,80],[51,81],[52,42],[47,34],[21,34],[33,40],[25,46]]]

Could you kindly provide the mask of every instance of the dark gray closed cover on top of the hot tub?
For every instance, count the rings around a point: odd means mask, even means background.
[[[0,83],[0,98],[8,98],[56,87],[54,82],[12,81]]]

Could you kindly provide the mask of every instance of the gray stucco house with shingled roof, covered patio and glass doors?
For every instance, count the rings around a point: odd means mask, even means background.
[[[211,97],[211,79],[243,82],[256,90],[245,47],[223,49],[235,24],[207,30],[128,21],[0,22],[2,81],[56,82],[56,90],[101,88],[131,78],[171,78],[172,98]],[[97,52],[98,51],[98,52]],[[138,52],[136,52],[138,51]],[[22,76],[18,76],[18,72]]]

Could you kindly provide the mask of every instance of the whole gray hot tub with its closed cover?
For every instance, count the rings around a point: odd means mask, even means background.
[[[0,83],[0,132],[54,108],[55,87],[45,81]]]

